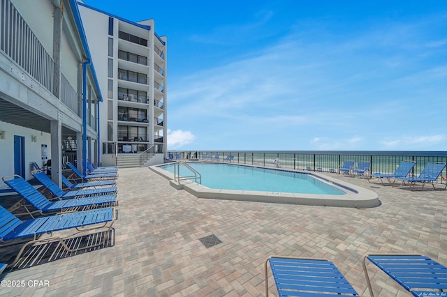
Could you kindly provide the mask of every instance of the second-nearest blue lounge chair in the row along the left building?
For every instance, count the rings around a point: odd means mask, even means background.
[[[43,172],[41,172],[43,174]],[[12,179],[8,179],[14,177]],[[27,206],[22,205],[27,214],[33,217],[33,213],[45,213],[54,211],[72,211],[78,208],[96,207],[96,206],[115,206],[117,195],[101,195],[94,197],[84,197],[78,199],[66,199],[50,201],[36,190],[31,184],[25,181],[21,176],[4,176],[2,178],[6,185],[15,190],[23,199],[27,200],[36,211],[29,211]]]

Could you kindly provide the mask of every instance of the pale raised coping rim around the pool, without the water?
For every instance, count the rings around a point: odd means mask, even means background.
[[[191,162],[195,163],[195,162]],[[206,163],[206,162],[204,162]],[[229,164],[228,162],[213,162],[212,164]],[[163,165],[175,164],[165,163]],[[380,206],[381,201],[379,195],[372,190],[368,190],[358,185],[353,185],[345,181],[340,181],[337,178],[318,174],[316,172],[304,172],[300,170],[281,169],[272,167],[263,167],[257,165],[241,165],[232,164],[246,167],[256,167],[264,169],[279,169],[287,172],[297,172],[302,174],[308,174],[314,178],[325,181],[334,185],[336,188],[340,188],[346,195],[320,195],[320,194],[302,194],[302,193],[288,193],[288,192],[265,192],[265,191],[248,191],[248,190],[222,190],[207,188],[204,185],[193,181],[174,181],[174,174],[167,170],[159,168],[163,165],[149,166],[153,172],[163,176],[169,180],[171,186],[177,190],[186,190],[186,192],[198,198],[206,199],[224,199],[224,200],[237,200],[237,201],[253,201],[253,202],[268,202],[268,203],[280,203],[280,204],[300,204],[309,206],[338,206],[338,207],[351,207],[351,208],[372,208]]]

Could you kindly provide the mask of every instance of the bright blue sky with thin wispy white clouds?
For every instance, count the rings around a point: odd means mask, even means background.
[[[447,1],[85,0],[168,38],[168,149],[446,151]]]

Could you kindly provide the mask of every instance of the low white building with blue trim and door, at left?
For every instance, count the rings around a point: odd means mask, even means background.
[[[29,179],[31,162],[51,160],[60,185],[64,162],[100,158],[101,91],[78,5],[2,0],[0,17],[0,177]]]

